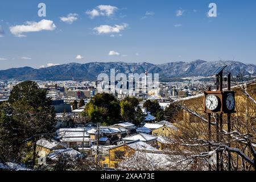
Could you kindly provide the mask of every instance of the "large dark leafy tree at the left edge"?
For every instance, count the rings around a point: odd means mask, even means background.
[[[55,111],[46,90],[32,81],[21,82],[11,91],[9,102],[0,107],[0,159],[17,162],[32,152],[36,159],[36,141],[49,138],[55,131]],[[27,143],[32,147],[27,150]]]

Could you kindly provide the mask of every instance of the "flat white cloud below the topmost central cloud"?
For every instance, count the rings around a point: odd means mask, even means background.
[[[129,24],[123,23],[123,24],[115,24],[115,26],[109,26],[109,25],[101,25],[100,27],[95,27],[93,30],[97,31],[98,34],[110,34],[110,33],[119,33],[121,30],[124,30],[126,27],[128,27]]]

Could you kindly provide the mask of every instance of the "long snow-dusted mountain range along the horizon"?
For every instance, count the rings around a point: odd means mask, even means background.
[[[123,63],[92,62],[86,64],[69,63],[48,68],[34,69],[30,67],[11,68],[0,71],[0,80],[96,80],[100,73],[110,73],[115,69],[116,73],[159,73],[160,80],[170,78],[210,76],[219,65],[228,65],[226,71],[233,75],[242,72],[243,75],[255,75],[256,65],[243,64],[238,61],[203,61],[172,62],[166,64],[150,63]]]

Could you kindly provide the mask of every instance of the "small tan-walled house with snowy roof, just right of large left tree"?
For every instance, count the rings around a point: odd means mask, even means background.
[[[55,140],[40,139],[36,142],[36,152],[40,157],[47,156],[54,150],[63,150],[65,148],[68,148],[68,146]]]

